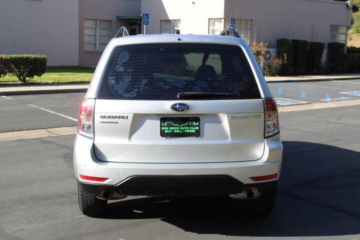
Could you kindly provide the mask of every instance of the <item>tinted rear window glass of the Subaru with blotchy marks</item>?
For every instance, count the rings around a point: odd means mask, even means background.
[[[180,92],[231,95],[191,99],[259,98],[249,64],[238,46],[137,44],[115,49],[98,98],[173,100]]]

